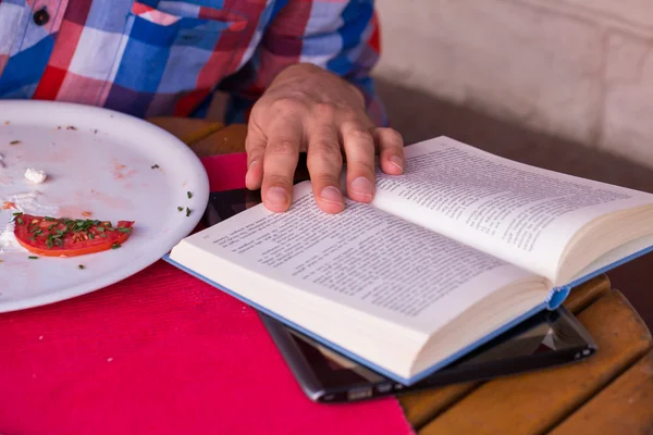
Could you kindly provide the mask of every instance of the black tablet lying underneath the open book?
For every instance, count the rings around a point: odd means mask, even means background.
[[[296,177],[296,182],[305,176]],[[247,189],[212,192],[205,224],[214,225],[260,203]],[[410,387],[397,384],[260,313],[305,393],[316,401],[370,399],[453,383],[488,380],[590,357],[596,346],[564,308],[545,311]]]

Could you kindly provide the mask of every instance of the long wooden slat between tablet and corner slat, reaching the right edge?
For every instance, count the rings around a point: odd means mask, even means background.
[[[555,426],[651,348],[651,334],[619,291],[579,320],[599,345],[581,363],[489,382],[431,421],[420,435],[540,434]]]

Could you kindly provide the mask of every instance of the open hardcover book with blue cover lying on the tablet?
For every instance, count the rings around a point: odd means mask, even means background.
[[[167,260],[406,385],[653,247],[653,195],[446,137],[378,172],[371,204],[321,212],[295,186],[196,233]]]

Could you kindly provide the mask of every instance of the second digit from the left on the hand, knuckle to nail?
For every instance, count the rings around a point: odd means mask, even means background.
[[[286,120],[275,123],[272,132],[263,156],[261,199],[269,210],[283,212],[291,207],[293,177],[304,134],[299,122]]]

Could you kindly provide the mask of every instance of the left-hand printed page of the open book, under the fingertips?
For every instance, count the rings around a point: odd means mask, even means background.
[[[344,212],[326,214],[308,183],[295,187],[286,213],[258,206],[199,236],[188,240],[252,273],[427,333],[492,290],[532,277],[369,204],[347,201]]]

